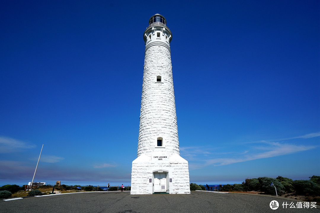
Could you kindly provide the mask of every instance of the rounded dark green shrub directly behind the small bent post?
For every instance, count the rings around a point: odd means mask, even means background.
[[[265,192],[266,194],[276,195],[276,190],[278,195],[284,194],[284,186],[275,178],[268,178],[268,177],[260,177],[258,178],[260,183],[260,191]],[[273,184],[276,186],[276,190],[274,186],[271,186],[270,184],[273,182]]]

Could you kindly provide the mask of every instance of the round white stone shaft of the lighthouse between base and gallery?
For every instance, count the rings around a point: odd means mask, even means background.
[[[161,76],[161,82],[157,82]],[[166,152],[179,154],[170,51],[163,46],[146,50],[142,82],[138,156],[157,149],[163,138]]]

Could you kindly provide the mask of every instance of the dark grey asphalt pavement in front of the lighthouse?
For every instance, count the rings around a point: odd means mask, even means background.
[[[280,207],[272,210],[271,201]],[[284,209],[281,198],[248,194],[219,194],[192,191],[191,194],[132,195],[130,192],[92,192],[30,197],[20,200],[1,201],[1,213],[158,213],[158,212],[317,212],[320,209]]]

